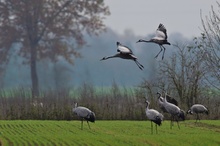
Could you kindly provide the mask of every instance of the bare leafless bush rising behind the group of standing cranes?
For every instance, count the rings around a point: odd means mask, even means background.
[[[160,82],[166,85],[168,90],[180,98],[180,103],[187,103],[189,107],[197,102],[203,77],[204,67],[203,54],[187,45],[175,45],[174,52],[169,60],[160,63]]]

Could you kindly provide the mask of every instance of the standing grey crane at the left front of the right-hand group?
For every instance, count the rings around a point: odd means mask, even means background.
[[[148,102],[146,100],[146,103],[147,103],[147,105],[146,105],[145,112],[146,112],[147,118],[151,121],[151,134],[153,134],[153,124],[152,124],[152,122],[155,123],[155,128],[156,128],[156,133],[157,133],[157,125],[160,126],[162,124],[163,115],[155,109],[149,109],[150,102]]]

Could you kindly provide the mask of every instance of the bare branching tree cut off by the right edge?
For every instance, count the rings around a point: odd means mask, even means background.
[[[220,10],[220,3],[217,7]],[[209,16],[203,18],[201,11],[201,21],[203,26],[201,49],[206,53],[206,64],[209,72],[206,76],[207,81],[215,88],[220,89],[220,11],[215,11],[211,6]]]

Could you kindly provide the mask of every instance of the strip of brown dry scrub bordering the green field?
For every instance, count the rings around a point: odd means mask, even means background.
[[[78,94],[71,94],[77,91]],[[116,83],[108,91],[96,89],[91,84],[83,84],[77,89],[62,92],[47,91],[41,93],[37,99],[31,97],[31,91],[26,89],[0,91],[0,119],[1,120],[75,120],[72,112],[74,102],[90,108],[95,112],[98,120],[146,120],[145,98],[151,102],[151,107],[160,110],[156,93],[152,96],[149,90],[142,87],[119,88]],[[200,96],[202,104],[206,105],[210,114],[207,119],[219,119],[220,100],[217,96]],[[187,111],[185,105],[180,107]],[[165,114],[165,119],[169,115]],[[189,119],[190,116],[187,116]]]

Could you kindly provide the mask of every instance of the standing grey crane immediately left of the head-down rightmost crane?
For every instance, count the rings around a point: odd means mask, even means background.
[[[181,118],[184,121],[185,120],[184,111],[181,110],[178,106],[168,102],[166,95],[165,95],[165,98],[164,98],[164,101],[162,104],[163,104],[164,108],[166,109],[166,111],[168,113],[170,113],[170,115],[171,115],[170,129],[172,129],[174,120],[177,122],[178,128],[180,129],[179,121],[177,118]]]

